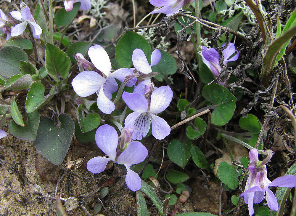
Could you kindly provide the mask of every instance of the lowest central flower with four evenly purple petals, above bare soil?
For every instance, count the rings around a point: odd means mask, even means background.
[[[93,173],[100,173],[104,171],[107,163],[111,160],[117,164],[123,164],[127,170],[126,185],[132,191],[137,191],[141,188],[141,178],[130,167],[145,160],[148,155],[147,148],[139,141],[132,141],[120,153],[118,151],[118,138],[116,130],[110,125],[104,124],[100,126],[96,131],[95,140],[98,147],[108,158],[98,156],[90,159],[87,162],[87,169]]]

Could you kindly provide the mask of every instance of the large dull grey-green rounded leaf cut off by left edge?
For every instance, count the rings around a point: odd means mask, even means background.
[[[0,75],[10,77],[20,74],[20,61],[28,62],[26,52],[17,46],[5,46],[0,49]]]

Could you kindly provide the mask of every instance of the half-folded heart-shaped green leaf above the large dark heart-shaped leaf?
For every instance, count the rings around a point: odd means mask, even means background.
[[[54,96],[54,88],[53,86],[48,95],[44,96],[45,88],[41,83],[34,82],[28,91],[27,100],[26,100],[26,111],[27,113],[34,112],[40,107],[47,104],[52,97]]]

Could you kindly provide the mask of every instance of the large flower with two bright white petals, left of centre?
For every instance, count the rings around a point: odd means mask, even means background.
[[[111,101],[112,93],[118,89],[118,84],[114,78],[122,82],[126,76],[133,74],[133,70],[120,68],[111,73],[109,56],[104,48],[99,45],[90,47],[88,54],[98,71],[83,71],[79,73],[72,81],[73,89],[80,97],[87,97],[96,92],[98,95],[98,108],[103,113],[110,114],[115,109],[115,105]],[[83,60],[81,57],[80,59]],[[136,77],[134,77],[126,83],[126,86],[132,87],[136,80]]]

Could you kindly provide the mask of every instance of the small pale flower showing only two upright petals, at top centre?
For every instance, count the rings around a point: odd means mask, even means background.
[[[161,59],[161,53],[158,49],[153,50],[151,54],[151,64],[149,65],[143,50],[135,49],[132,55],[133,66],[141,73],[152,73],[151,66],[157,65]]]

